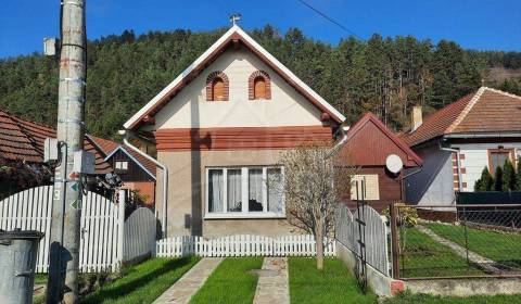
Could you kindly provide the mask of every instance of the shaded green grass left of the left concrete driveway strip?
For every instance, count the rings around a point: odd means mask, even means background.
[[[130,267],[125,276],[88,294],[81,303],[152,303],[200,258],[152,258]]]

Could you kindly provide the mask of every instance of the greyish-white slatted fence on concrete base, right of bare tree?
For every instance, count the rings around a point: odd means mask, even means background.
[[[365,228],[361,229],[364,235],[359,232],[357,218],[365,223]],[[358,241],[365,241],[366,263],[390,276],[390,231],[385,223],[386,220],[367,204],[360,206],[359,212],[354,210],[353,213],[347,205],[341,204],[336,211],[335,239],[357,256],[361,256]]]

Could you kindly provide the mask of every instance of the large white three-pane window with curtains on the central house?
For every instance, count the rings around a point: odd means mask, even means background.
[[[283,217],[283,168],[206,169],[206,217]]]

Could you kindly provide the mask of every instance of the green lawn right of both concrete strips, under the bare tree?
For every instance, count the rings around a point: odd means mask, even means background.
[[[315,258],[289,257],[289,264],[291,303],[377,303],[338,258],[326,258],[322,271]]]

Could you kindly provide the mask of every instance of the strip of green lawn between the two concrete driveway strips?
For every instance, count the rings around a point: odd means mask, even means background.
[[[193,295],[190,303],[252,303],[258,276],[251,274],[250,270],[260,269],[263,259],[263,257],[226,258]]]

